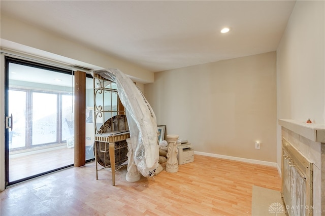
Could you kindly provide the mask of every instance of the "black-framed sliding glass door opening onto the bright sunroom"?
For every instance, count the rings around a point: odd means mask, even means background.
[[[5,59],[7,185],[72,166],[73,71]]]

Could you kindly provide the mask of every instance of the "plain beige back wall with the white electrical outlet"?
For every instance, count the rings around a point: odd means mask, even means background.
[[[275,52],[155,73],[144,95],[195,151],[276,162]]]

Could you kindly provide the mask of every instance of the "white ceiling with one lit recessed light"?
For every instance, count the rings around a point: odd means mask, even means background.
[[[275,51],[295,3],[2,0],[1,13],[155,72]]]

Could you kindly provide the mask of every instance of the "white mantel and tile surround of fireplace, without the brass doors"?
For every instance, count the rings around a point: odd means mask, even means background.
[[[279,119],[282,140],[287,140],[313,163],[313,215],[325,215],[325,126]]]

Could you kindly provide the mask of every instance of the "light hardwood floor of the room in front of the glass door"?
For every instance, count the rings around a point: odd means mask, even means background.
[[[164,166],[165,164],[163,164]],[[1,193],[1,215],[251,215],[252,186],[280,191],[275,167],[195,155],[176,173],[125,180],[126,167],[95,163],[36,178]]]

